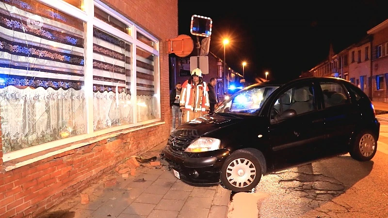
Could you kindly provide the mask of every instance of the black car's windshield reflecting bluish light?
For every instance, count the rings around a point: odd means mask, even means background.
[[[217,114],[233,113],[242,115],[256,115],[264,101],[279,86],[257,86],[248,90],[242,90],[225,100],[214,112]]]

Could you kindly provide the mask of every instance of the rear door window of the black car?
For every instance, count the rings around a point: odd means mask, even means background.
[[[322,82],[321,88],[325,108],[349,103],[348,95],[340,84],[335,82]]]

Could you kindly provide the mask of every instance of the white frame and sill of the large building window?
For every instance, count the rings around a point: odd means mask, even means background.
[[[60,140],[53,140],[47,143],[42,143],[38,145],[34,145],[32,147],[23,148],[20,150],[12,151],[9,153],[3,154],[3,161],[10,161],[14,160],[16,158],[20,158],[23,156],[28,156],[34,153],[42,152],[48,149],[52,149],[55,147],[59,147],[62,145],[70,144],[66,149],[74,149],[81,146],[84,146],[84,142],[81,142],[85,139],[90,139],[97,136],[102,136],[105,134],[115,134],[113,132],[116,131],[133,131],[133,129],[129,129],[131,127],[138,127],[138,129],[145,128],[144,125],[159,125],[164,124],[164,122],[161,122],[162,120],[162,108],[161,108],[161,84],[160,84],[160,51],[159,51],[159,43],[160,41],[153,36],[150,33],[147,33],[144,29],[142,29],[140,26],[136,25],[132,21],[130,21],[125,16],[121,15],[119,12],[114,11],[111,7],[109,7],[107,4],[101,2],[100,0],[83,0],[81,9],[63,1],[63,0],[36,0],[39,3],[46,4],[49,7],[52,7],[53,9],[60,10],[61,12],[68,14],[70,16],[73,16],[75,18],[78,18],[84,22],[84,94],[85,94],[85,108],[86,108],[86,133],[72,136]],[[123,22],[124,24],[131,27],[132,35],[126,34],[123,31],[120,31],[118,29],[115,29],[113,26],[105,23],[102,20],[99,20],[94,16],[94,7],[99,8],[100,10],[108,13],[111,16],[114,16],[119,21]],[[137,92],[136,92],[136,85],[131,85],[130,91],[131,91],[131,103],[133,105],[132,107],[132,121],[133,124],[128,125],[119,125],[119,126],[113,126],[110,128],[105,128],[101,130],[94,131],[93,130],[93,28],[97,27],[98,29],[101,29],[103,31],[110,32],[110,34],[114,35],[117,38],[120,38],[121,40],[127,41],[131,44],[131,55],[132,55],[132,63],[131,63],[131,84],[136,84],[136,47],[140,47],[153,55],[155,55],[156,58],[154,58],[154,97],[156,97],[157,102],[157,117],[152,120],[147,120],[144,122],[137,122],[137,107],[136,107],[136,100],[137,100]],[[140,42],[139,40],[136,40],[136,34],[137,32],[142,33],[143,35],[147,36],[149,39],[154,41],[155,48],[149,47],[143,42]],[[117,134],[116,134],[117,135]]]

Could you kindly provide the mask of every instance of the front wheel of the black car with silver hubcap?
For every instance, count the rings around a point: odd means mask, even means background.
[[[262,173],[260,155],[256,149],[240,149],[233,152],[226,158],[221,168],[221,185],[233,192],[246,192],[256,187]]]

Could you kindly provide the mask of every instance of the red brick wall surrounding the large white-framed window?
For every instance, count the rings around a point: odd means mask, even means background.
[[[0,151],[1,218],[35,217],[80,192],[91,180],[111,171],[127,157],[143,153],[168,137],[171,121],[165,42],[178,35],[178,0],[106,0],[106,3],[160,40],[161,116],[165,124],[99,140],[7,172]]]

